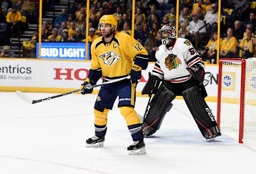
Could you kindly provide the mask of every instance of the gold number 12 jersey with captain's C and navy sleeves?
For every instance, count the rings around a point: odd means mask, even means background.
[[[148,65],[146,49],[130,35],[121,32],[116,32],[110,43],[102,37],[95,39],[91,55],[90,71],[101,70],[106,80],[128,76],[133,61],[144,70]]]

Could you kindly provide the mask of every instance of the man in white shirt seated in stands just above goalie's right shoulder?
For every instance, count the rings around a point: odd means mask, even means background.
[[[205,24],[202,20],[198,19],[197,13],[191,14],[192,21],[189,22],[188,30],[189,30],[189,37],[195,40],[195,47],[196,49],[199,48],[199,39],[202,39],[206,34],[206,28],[202,28]],[[199,32],[199,35],[198,35]]]

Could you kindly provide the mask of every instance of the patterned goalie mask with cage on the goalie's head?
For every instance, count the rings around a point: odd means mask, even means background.
[[[163,36],[163,32],[167,33],[167,36]],[[175,29],[175,27],[170,26],[169,24],[165,24],[159,31],[159,34],[162,38],[162,44],[166,45],[170,42],[170,40],[176,38],[177,30]]]

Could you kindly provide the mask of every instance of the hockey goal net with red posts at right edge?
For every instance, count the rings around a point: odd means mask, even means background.
[[[239,143],[256,142],[256,58],[220,59],[217,121]]]

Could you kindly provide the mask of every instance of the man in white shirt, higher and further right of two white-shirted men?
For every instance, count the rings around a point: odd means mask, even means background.
[[[221,16],[221,18],[222,18],[222,16]],[[218,22],[218,11],[217,11],[216,4],[211,5],[211,12],[209,12],[205,15],[204,21],[206,23],[210,23],[211,31],[212,31],[211,36],[212,36],[213,32],[217,31],[217,29],[218,29],[218,23],[217,23]],[[207,25],[207,28],[209,28],[209,25]]]

